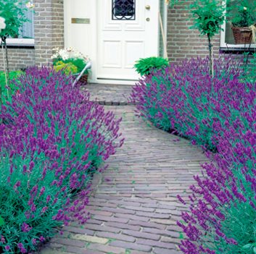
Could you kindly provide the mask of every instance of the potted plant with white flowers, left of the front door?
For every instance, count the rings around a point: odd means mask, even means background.
[[[63,64],[73,64],[76,67],[76,69],[73,68],[71,72],[74,78],[80,75],[80,72],[83,71],[84,67],[86,67],[86,64],[91,60],[87,55],[84,56],[80,52],[75,51],[74,48],[54,48],[54,50],[56,51],[56,53],[51,56],[51,59],[53,59],[54,67]],[[82,84],[84,82],[87,82],[90,72],[91,71],[86,69],[78,82]]]

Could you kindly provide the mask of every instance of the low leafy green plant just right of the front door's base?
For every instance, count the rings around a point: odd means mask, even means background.
[[[136,72],[141,76],[149,75],[152,69],[162,69],[169,65],[167,59],[155,56],[140,59],[139,61],[136,61],[136,63],[137,64],[134,64],[133,68],[136,68]]]

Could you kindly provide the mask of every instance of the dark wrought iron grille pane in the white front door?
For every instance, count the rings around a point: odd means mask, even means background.
[[[136,0],[112,0],[112,20],[135,20]]]

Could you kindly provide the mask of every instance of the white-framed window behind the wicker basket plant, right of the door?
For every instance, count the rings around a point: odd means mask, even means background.
[[[249,0],[253,2],[255,0]],[[236,5],[236,0],[231,0],[228,4],[228,7],[234,7]],[[236,9],[231,11],[231,14],[236,14]],[[232,17],[227,17],[228,21],[231,21]],[[235,44],[233,31],[231,29],[231,22],[226,22],[222,25],[224,30],[220,32],[220,47],[222,48],[244,48],[244,44]],[[249,47],[249,44],[246,44],[246,47]],[[256,48],[256,44],[252,44],[251,48]]]

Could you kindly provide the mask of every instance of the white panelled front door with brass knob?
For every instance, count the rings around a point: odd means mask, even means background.
[[[159,54],[158,9],[159,0],[97,1],[97,80],[139,80],[135,61]]]

